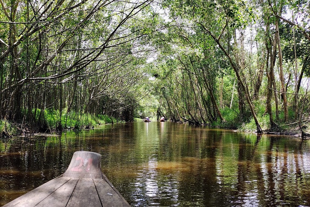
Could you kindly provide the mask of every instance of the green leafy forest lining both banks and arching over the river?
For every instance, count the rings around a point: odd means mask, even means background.
[[[0,2],[2,136],[145,116],[307,135],[307,1]]]

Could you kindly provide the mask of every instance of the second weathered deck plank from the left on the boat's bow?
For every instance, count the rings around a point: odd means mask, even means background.
[[[46,199],[42,200],[36,205],[41,206],[53,206],[53,207],[65,207],[70,199],[72,192],[74,191],[79,179],[72,178],[68,182],[64,183],[60,188],[51,193]]]

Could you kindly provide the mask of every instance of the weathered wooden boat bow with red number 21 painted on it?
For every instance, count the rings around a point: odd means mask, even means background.
[[[4,205],[9,206],[130,205],[101,172],[101,155],[78,151],[63,175]]]

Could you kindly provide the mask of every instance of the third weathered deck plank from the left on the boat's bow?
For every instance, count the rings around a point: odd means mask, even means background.
[[[71,206],[101,207],[93,179],[79,179],[67,205],[67,207]]]

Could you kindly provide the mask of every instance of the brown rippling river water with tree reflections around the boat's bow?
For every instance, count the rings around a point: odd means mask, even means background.
[[[170,122],[0,140],[0,205],[61,175],[73,152],[131,206],[310,206],[310,141]]]

